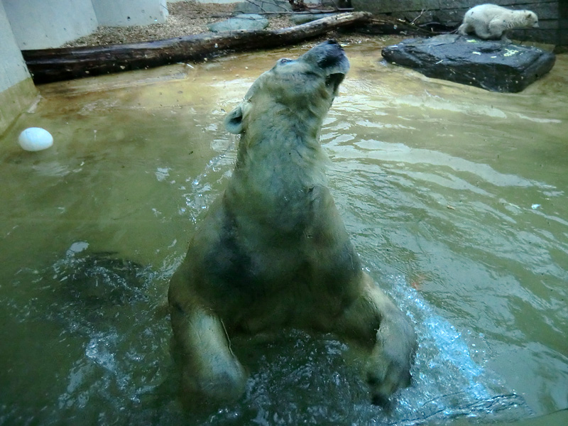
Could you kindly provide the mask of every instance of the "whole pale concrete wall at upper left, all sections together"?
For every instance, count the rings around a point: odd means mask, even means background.
[[[166,0],[0,0],[0,134],[38,95],[21,50],[58,48],[97,26],[163,23]]]

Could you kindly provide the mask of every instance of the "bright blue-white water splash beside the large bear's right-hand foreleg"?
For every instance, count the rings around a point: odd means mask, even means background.
[[[389,292],[415,322],[419,348],[413,386],[395,401],[395,425],[422,425],[466,415],[514,420],[530,413],[520,395],[476,364],[466,337],[436,312],[403,276],[391,277]]]

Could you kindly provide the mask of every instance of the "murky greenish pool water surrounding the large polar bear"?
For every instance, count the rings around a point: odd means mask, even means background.
[[[346,47],[322,143],[368,272],[415,322],[413,386],[373,407],[345,344],[284,330],[234,342],[251,369],[236,405],[175,400],[168,278],[231,173],[224,111],[276,51],[46,85],[0,139],[0,424],[402,426],[566,408],[568,57],[496,94],[384,65],[379,47]],[[53,148],[21,151],[29,126]]]

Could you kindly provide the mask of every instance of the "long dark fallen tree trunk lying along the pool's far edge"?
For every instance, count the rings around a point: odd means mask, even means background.
[[[366,12],[339,13],[275,31],[226,31],[143,43],[23,50],[22,54],[33,81],[39,84],[199,61],[236,50],[275,48],[370,19],[371,14]]]

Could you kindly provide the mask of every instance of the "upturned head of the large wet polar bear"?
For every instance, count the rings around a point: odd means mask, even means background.
[[[225,119],[227,131],[244,133],[252,122],[305,121],[317,126],[331,107],[349,60],[335,40],[315,46],[297,59],[283,58],[264,72]],[[266,123],[268,125],[268,123]]]

